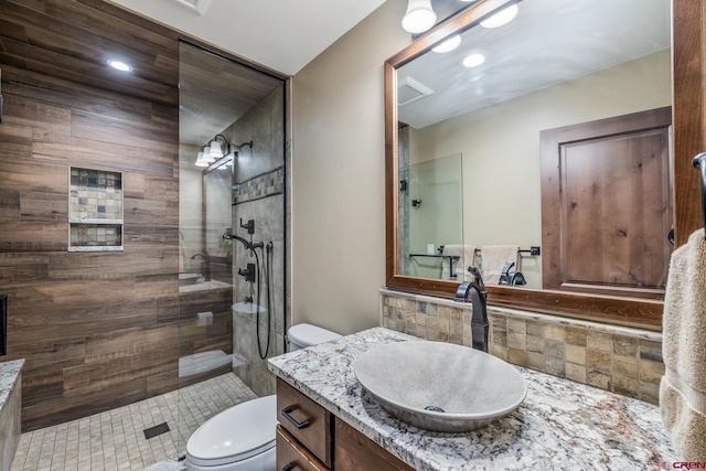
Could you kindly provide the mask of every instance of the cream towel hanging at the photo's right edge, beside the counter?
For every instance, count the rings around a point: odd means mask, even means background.
[[[672,254],[662,317],[662,421],[681,459],[706,461],[706,240]]]

